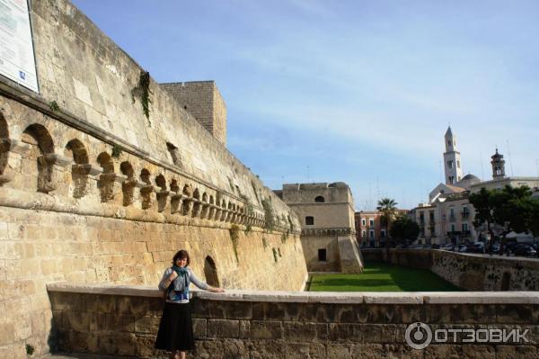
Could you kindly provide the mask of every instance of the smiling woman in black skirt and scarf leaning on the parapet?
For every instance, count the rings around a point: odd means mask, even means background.
[[[195,348],[189,302],[190,283],[209,292],[225,292],[222,288],[214,288],[200,281],[190,270],[189,264],[189,254],[181,249],[172,258],[172,267],[164,271],[159,283],[159,290],[166,296],[166,302],[155,348],[171,351],[172,359],[185,359],[186,352]]]

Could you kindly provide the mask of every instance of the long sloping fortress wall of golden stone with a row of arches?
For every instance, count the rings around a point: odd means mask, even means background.
[[[0,79],[0,357],[50,346],[46,283],[300,290],[299,220],[66,0],[31,2],[40,94]],[[142,90],[141,90],[142,88]],[[276,277],[283,280],[275,281]]]

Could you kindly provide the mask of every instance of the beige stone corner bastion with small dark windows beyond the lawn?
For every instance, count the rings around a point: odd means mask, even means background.
[[[283,184],[282,191],[276,193],[302,224],[301,241],[309,272],[362,271],[348,184]]]

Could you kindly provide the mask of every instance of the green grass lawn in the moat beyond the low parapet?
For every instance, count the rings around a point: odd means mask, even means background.
[[[314,274],[311,292],[463,292],[426,269],[366,263],[362,274]]]

